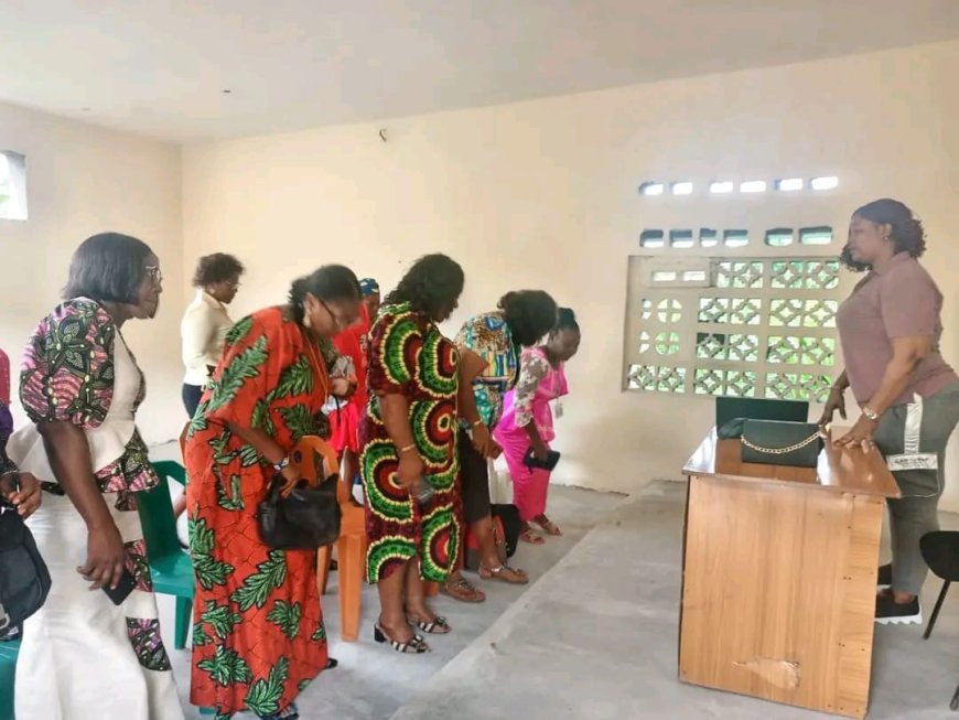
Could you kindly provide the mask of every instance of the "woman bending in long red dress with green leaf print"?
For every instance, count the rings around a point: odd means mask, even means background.
[[[316,551],[269,548],[256,513],[277,473],[299,480],[290,452],[316,434],[327,394],[345,391],[345,379],[328,379],[330,338],[359,302],[353,271],[325,266],[293,283],[288,305],[237,322],[190,425],[190,698],[220,717],[297,718],[293,700],[327,665]]]

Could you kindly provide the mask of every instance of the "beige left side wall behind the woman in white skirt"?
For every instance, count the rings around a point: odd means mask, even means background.
[[[25,223],[0,219],[0,346],[11,358],[13,395],[26,337],[58,301],[74,249],[95,233],[127,233],[160,257],[165,289],[155,320],[123,329],[149,384],[140,429],[148,442],[176,434],[184,284],[179,149],[3,104],[0,149],[26,155],[30,209]],[[13,409],[19,425],[23,416]]]

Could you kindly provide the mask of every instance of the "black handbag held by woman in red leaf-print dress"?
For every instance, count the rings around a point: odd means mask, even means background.
[[[282,475],[270,483],[267,498],[257,507],[260,539],[280,550],[315,550],[340,537],[340,503],[336,486],[340,475],[330,475],[319,487],[303,481],[283,497]]]

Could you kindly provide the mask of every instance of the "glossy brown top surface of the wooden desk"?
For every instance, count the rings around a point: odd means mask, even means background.
[[[827,442],[819,453],[819,465],[815,469],[759,465],[744,463],[742,443],[739,440],[716,440],[714,429],[686,463],[682,474],[747,482],[801,483],[839,493],[901,496],[896,481],[876,450],[863,452],[838,449]]]

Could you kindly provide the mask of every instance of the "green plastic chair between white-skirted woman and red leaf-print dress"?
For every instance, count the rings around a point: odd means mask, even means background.
[[[153,463],[161,479],[171,477],[186,486],[186,470],[179,462],[163,460]],[[173,517],[173,503],[166,483],[137,495],[143,538],[147,540],[147,557],[150,560],[150,574],[153,577],[153,591],[176,598],[176,627],[173,646],[182,651],[186,647],[186,636],[193,620],[193,595],[196,580],[193,576],[193,561],[180,547],[176,536],[176,519]]]

